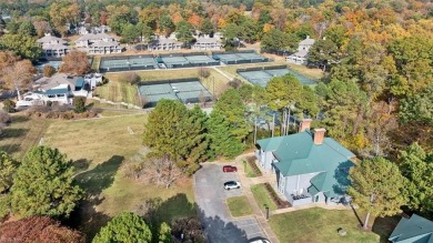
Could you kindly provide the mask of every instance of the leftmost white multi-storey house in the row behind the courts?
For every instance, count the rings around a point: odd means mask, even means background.
[[[67,41],[46,33],[46,36],[39,40],[37,43],[42,48],[42,58],[63,58],[69,52],[69,47]]]

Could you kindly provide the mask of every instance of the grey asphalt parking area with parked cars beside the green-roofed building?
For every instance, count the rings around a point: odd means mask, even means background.
[[[240,190],[226,191],[226,181],[239,181],[238,173],[223,173],[222,164],[203,164],[194,175],[195,201],[201,220],[211,243],[243,243],[249,239],[264,236],[253,216],[232,219],[225,204],[226,198],[242,195]]]

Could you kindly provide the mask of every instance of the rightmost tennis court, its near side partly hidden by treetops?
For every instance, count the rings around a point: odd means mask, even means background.
[[[252,84],[266,87],[268,82],[274,78],[274,77],[282,77],[285,74],[293,74],[299,79],[299,81],[304,85],[312,85],[316,84],[314,80],[311,80],[302,74],[299,74],[298,72],[294,72],[288,68],[281,68],[281,67],[266,67],[266,68],[252,68],[252,69],[243,69],[238,70],[238,73],[251,82]]]

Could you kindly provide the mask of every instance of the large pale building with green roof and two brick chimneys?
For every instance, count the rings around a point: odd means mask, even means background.
[[[313,202],[339,203],[350,185],[349,169],[355,155],[324,129],[301,123],[296,134],[259,140],[255,155],[262,170],[274,173],[278,191],[293,205]]]

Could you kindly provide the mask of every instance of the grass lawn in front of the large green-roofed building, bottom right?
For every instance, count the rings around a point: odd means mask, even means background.
[[[373,232],[361,231],[353,211],[313,207],[272,215],[269,221],[280,242],[380,242]],[[342,227],[345,236],[338,234]]]

